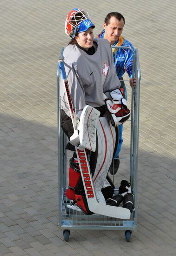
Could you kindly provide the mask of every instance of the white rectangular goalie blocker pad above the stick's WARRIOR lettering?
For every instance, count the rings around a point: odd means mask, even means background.
[[[79,122],[79,149],[87,148],[93,152],[96,149],[96,126],[100,116],[100,111],[86,105]]]

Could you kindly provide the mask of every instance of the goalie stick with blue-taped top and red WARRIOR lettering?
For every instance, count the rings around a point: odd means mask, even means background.
[[[67,100],[69,103],[69,110],[70,110],[71,120],[73,123],[73,128],[75,130],[76,116],[75,116],[75,111],[74,111],[72,100],[71,100],[69,84],[68,84],[67,76],[65,73],[63,59],[59,60],[59,67],[61,70],[64,85],[65,85],[65,92],[66,92]],[[85,149],[80,150],[77,146],[75,146],[75,151],[76,151],[76,155],[79,162],[79,167],[82,175],[82,182],[83,182],[89,210],[96,214],[105,215],[113,218],[129,219],[131,216],[129,209],[122,208],[122,207],[114,207],[114,206],[103,204],[97,201],[96,193],[94,191],[94,183],[92,181],[92,175],[90,172],[90,167],[89,167],[89,163],[86,155],[86,150]]]

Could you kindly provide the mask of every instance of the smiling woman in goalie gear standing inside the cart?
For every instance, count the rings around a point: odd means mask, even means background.
[[[71,101],[75,114],[77,115],[77,122],[79,123],[79,119],[82,118],[82,110],[85,109],[87,105],[100,111],[100,118],[106,116],[104,121],[98,122],[98,127],[101,131],[97,131],[97,135],[95,132],[95,135],[98,137],[97,141],[100,142],[96,144],[95,152],[86,151],[94,186],[98,188],[97,190],[95,189],[96,196],[98,197],[98,192],[101,192],[113,159],[113,151],[117,148],[118,143],[115,128],[113,128],[109,121],[109,113],[113,115],[113,124],[115,123],[117,125],[118,121],[123,119],[124,122],[129,118],[130,111],[127,108],[123,108],[122,99],[115,99],[115,102],[113,101],[113,94],[111,95],[111,93],[120,88],[120,82],[116,75],[115,67],[113,66],[111,46],[107,40],[95,39],[93,28],[94,24],[85,10],[73,9],[68,14],[65,22],[65,33],[71,37],[71,41],[63,51],[63,58]],[[105,104],[104,101],[105,93],[108,94],[108,96],[111,95],[110,99],[107,99],[106,96],[108,105]],[[79,129],[77,128],[76,134],[73,136],[75,132],[71,123],[69,103],[62,82],[60,96],[62,111],[61,126],[69,137],[70,142],[76,146],[75,143],[78,143],[76,141],[79,141],[81,132],[79,133]],[[117,108],[116,105],[118,105]],[[117,120],[115,120],[115,118]],[[103,125],[107,127],[108,131],[105,131]],[[106,136],[106,132],[108,136]],[[86,135],[87,134],[85,134],[85,136]],[[106,143],[104,147],[103,145],[100,146],[101,143],[103,143],[102,141]],[[103,153],[98,154],[98,150]],[[101,160],[98,160],[100,158],[99,155],[102,155]],[[90,212],[87,209],[85,199],[82,196],[85,193],[82,192],[82,179],[79,167],[76,164],[76,158],[77,157],[74,155],[70,163],[69,188],[66,191],[66,195],[69,199],[76,200],[77,205],[79,205],[86,214],[89,214]],[[101,180],[103,184],[101,184]],[[85,175],[84,182],[87,182],[88,187],[88,175]],[[106,186],[109,186],[108,182]],[[102,196],[103,194],[99,193],[98,200],[104,200],[103,202],[106,203],[105,198],[103,197],[102,199]]]

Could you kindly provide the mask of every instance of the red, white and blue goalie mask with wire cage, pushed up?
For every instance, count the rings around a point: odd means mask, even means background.
[[[88,30],[89,27],[94,28],[95,26],[90,20],[88,12],[85,10],[75,8],[67,15],[65,34],[69,35],[72,39],[78,33]]]

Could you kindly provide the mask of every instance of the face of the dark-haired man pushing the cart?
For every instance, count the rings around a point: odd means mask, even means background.
[[[124,21],[123,19],[117,20],[114,16],[110,18],[109,24],[106,25],[104,22],[103,25],[105,29],[104,38],[106,38],[111,45],[113,45],[118,39],[119,36],[122,34]]]

